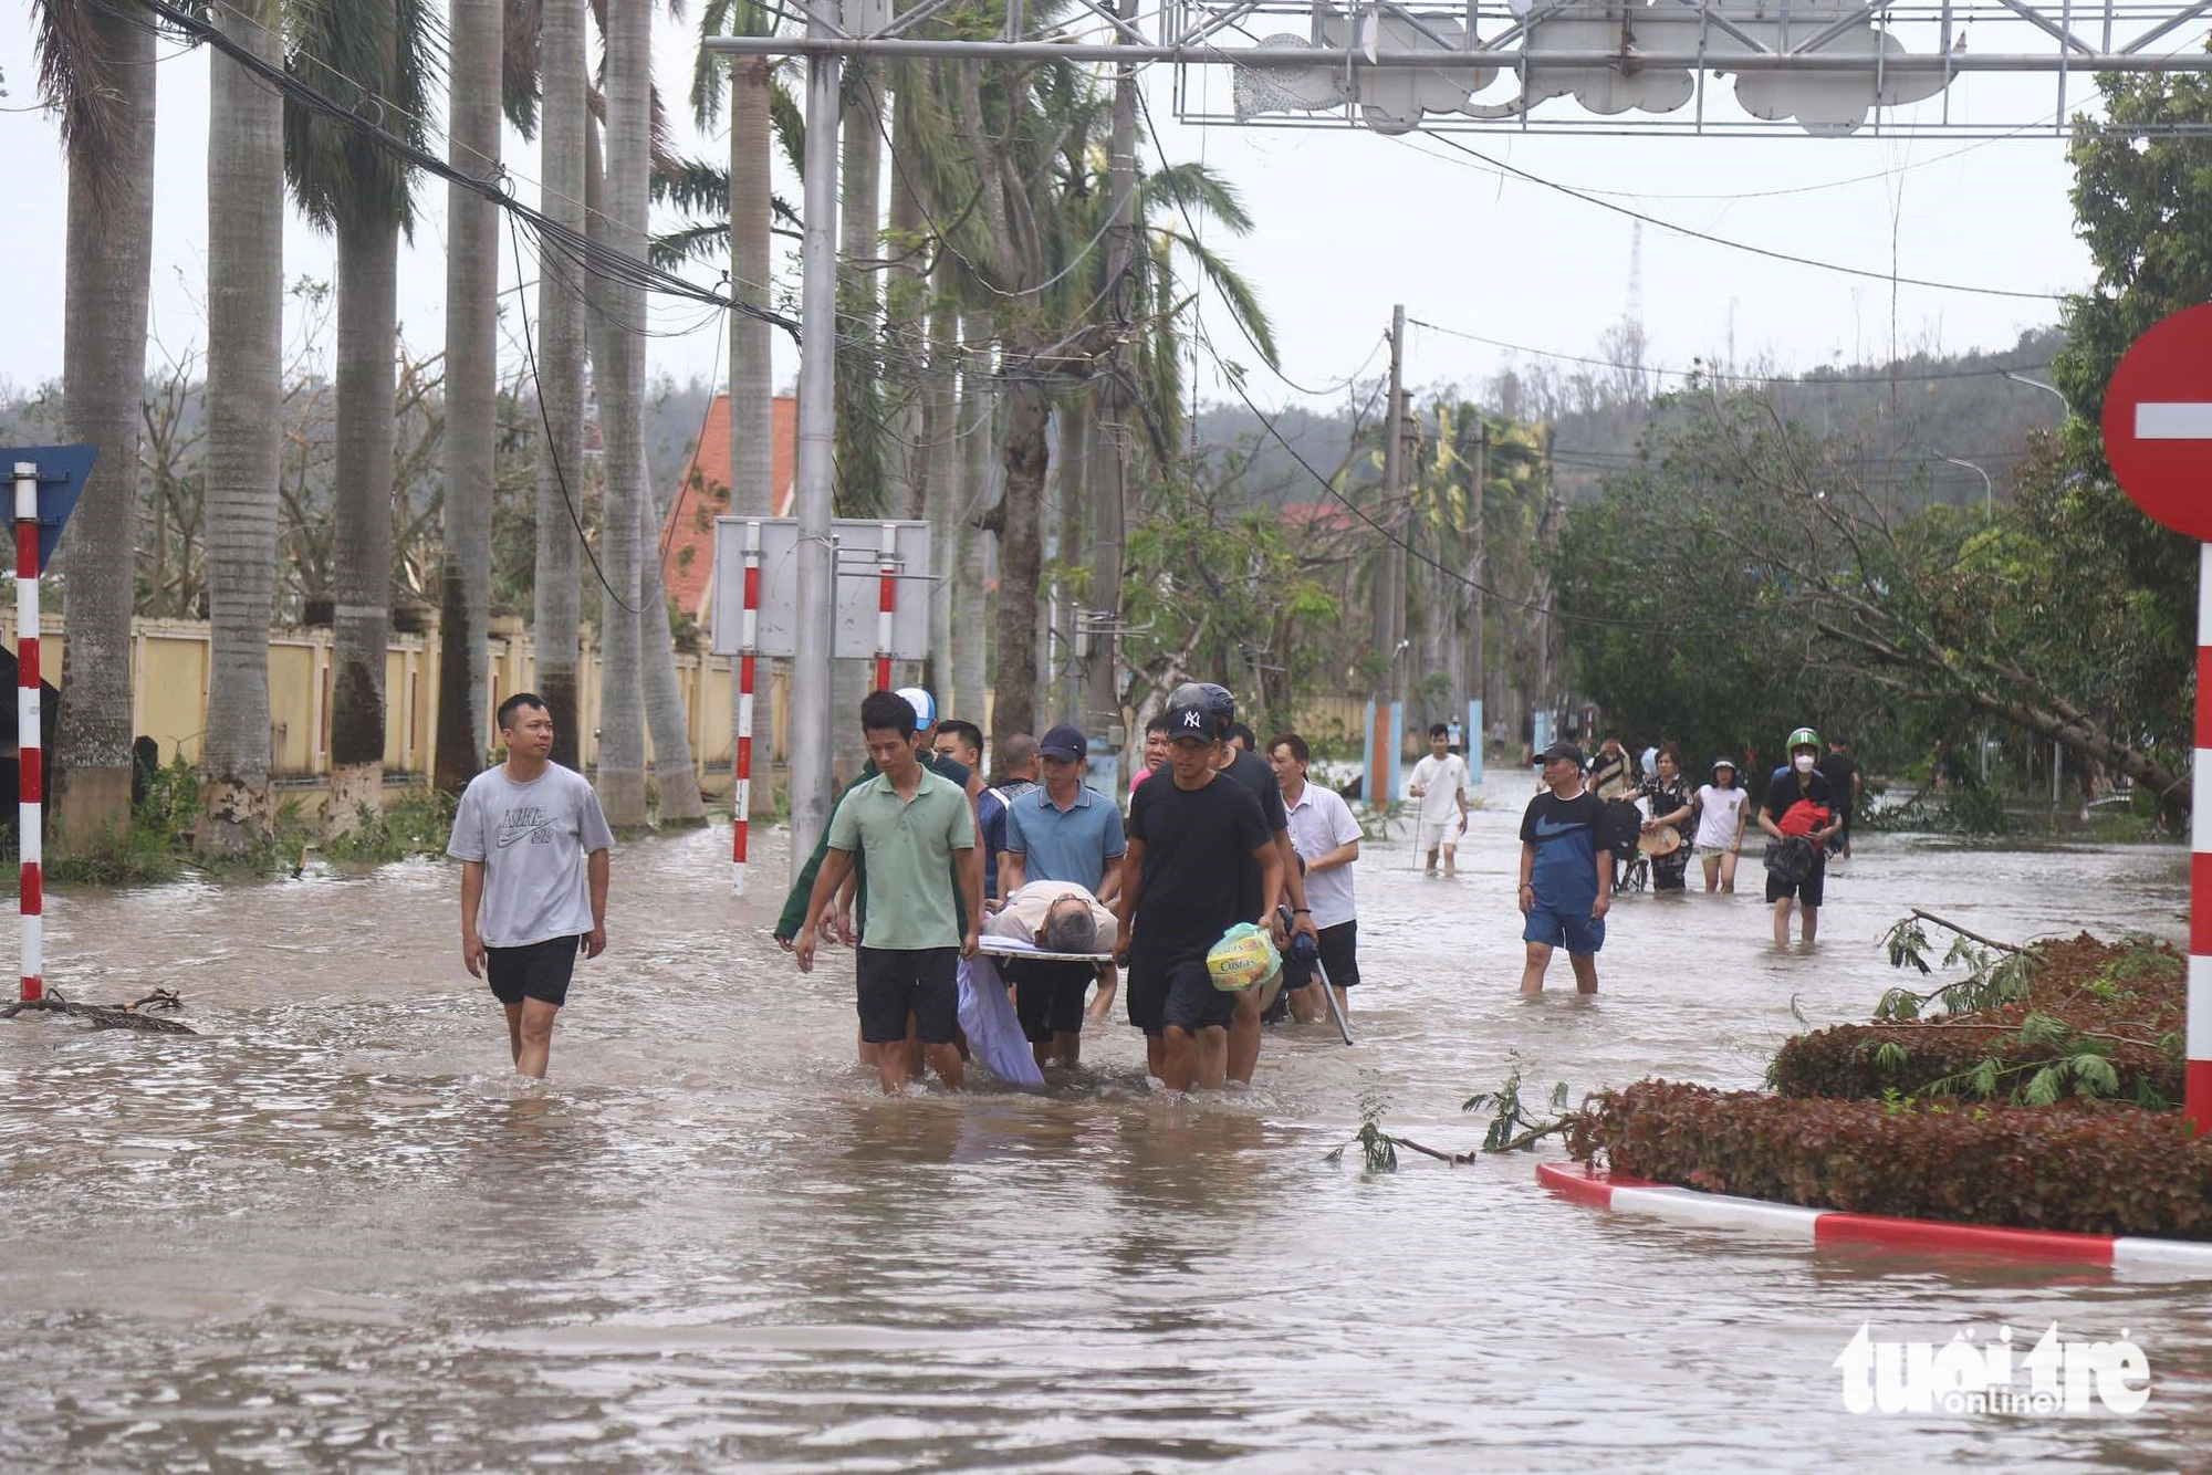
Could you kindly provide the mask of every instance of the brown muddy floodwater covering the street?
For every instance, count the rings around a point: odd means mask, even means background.
[[[1595,1006],[1515,993],[1493,774],[1462,876],[1358,865],[1358,1044],[1146,1086],[1119,1017],[1044,1095],[883,1101],[847,953],[801,977],[728,829],[626,845],[531,1090],[460,969],[451,867],[66,891],[51,977],[201,1039],[0,1024],[0,1468],[2170,1468],[2212,1451],[2208,1285],[1834,1254],[1606,1216],[1535,1157],[1329,1165],[1363,1112],[1644,1075],[1752,1086],[1865,1017],[1909,904],[2000,938],[2181,935],[2174,849],[1865,836],[1820,944],[1756,896],[1624,898]],[[1756,865],[1745,867],[1759,882]],[[1352,1154],[1358,1157],[1356,1152]],[[1546,1157],[1557,1157],[1548,1152]],[[1971,1163],[1960,1165],[1973,1172]],[[1854,1415],[1863,1322],[2143,1347],[2135,1415]]]

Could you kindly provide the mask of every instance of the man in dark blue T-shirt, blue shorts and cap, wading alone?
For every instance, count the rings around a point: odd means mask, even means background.
[[[1551,951],[1566,944],[1575,991],[1597,993],[1597,949],[1606,946],[1613,907],[1613,851],[1606,805],[1582,787],[1582,750],[1553,743],[1544,750],[1544,792],[1522,814],[1520,909],[1528,918],[1522,940],[1522,993],[1544,993]]]

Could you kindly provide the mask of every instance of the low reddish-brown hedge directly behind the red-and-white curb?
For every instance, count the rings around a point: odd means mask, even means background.
[[[2212,1238],[2212,1137],[2110,1101],[1787,1099],[1637,1081],[1584,1103],[1568,1150],[1639,1179],[1807,1207],[2013,1230]]]

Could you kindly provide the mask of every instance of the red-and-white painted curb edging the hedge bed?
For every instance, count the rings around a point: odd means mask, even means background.
[[[2055,1230],[1995,1230],[1940,1218],[1889,1218],[1807,1210],[1796,1203],[1736,1199],[1694,1188],[1646,1183],[1582,1163],[1537,1163],[1537,1183],[1555,1194],[1621,1214],[1648,1214],[1697,1230],[1743,1230],[1809,1245],[1878,1245],[1885,1249],[1993,1254],[2015,1260],[2110,1265],[2143,1278],[2212,1278],[2212,1241],[2143,1238],[2137,1234],[2062,1234]]]

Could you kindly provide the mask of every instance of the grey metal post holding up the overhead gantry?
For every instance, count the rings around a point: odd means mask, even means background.
[[[821,9],[807,11],[807,40],[834,35]],[[801,241],[799,464],[794,467],[799,546],[799,628],[792,655],[792,876],[830,825],[830,681],[836,663],[836,551],[830,544],[836,456],[836,150],[838,57],[807,57],[807,179]]]

